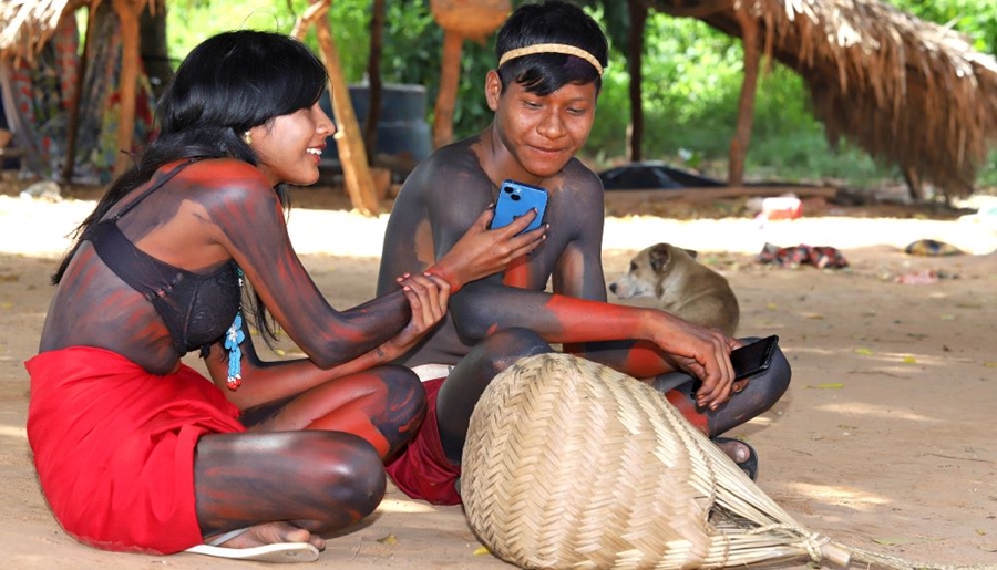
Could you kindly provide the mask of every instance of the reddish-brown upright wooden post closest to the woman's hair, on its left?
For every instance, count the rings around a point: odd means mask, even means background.
[[[121,103],[117,118],[117,157],[114,175],[123,173],[132,160],[132,137],[135,135],[135,94],[138,81],[138,15],[145,0],[114,0],[114,12],[121,21]]]

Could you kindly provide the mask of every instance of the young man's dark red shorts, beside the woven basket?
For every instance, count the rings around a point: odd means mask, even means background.
[[[443,454],[440,429],[436,426],[436,394],[446,379],[428,380],[425,388],[425,419],[415,437],[402,449],[401,455],[388,466],[388,476],[409,497],[428,500],[434,505],[460,505],[454,484],[461,476],[461,466],[452,465]]]

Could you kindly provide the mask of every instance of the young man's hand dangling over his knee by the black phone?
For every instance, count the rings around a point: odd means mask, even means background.
[[[695,394],[696,404],[717,410],[727,402],[734,387],[730,351],[740,342],[720,331],[692,324],[672,314],[658,314],[660,320],[652,342],[675,367],[702,381]]]

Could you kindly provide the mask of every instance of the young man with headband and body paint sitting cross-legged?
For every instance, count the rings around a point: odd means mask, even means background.
[[[444,255],[494,204],[505,179],[546,188],[546,240],[504,274],[467,283],[449,313],[400,362],[420,374],[426,418],[388,465],[409,496],[458,504],[460,460],[474,404],[494,375],[551,343],[647,381],[710,437],[764,412],[789,385],[785,359],[733,382],[741,341],[657,309],[608,303],[602,266],[603,186],[575,154],[595,120],[608,46],[598,24],[561,1],[517,8],[498,31],[485,77],[494,112],[482,133],[438,149],[409,176],[391,213],[379,291]],[[546,292],[548,281],[553,292]],[[693,395],[693,381],[702,387]],[[737,395],[734,397],[734,394]],[[747,444],[722,443],[751,470]]]

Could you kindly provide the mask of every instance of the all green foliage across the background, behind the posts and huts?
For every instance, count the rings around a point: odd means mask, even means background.
[[[902,10],[953,29],[978,51],[997,51],[997,2],[993,0],[890,0]],[[514,0],[517,6],[522,0]],[[604,76],[599,108],[586,158],[596,165],[618,163],[628,152],[629,75],[626,63],[627,10],[620,0],[576,0],[610,37],[610,64]],[[371,0],[335,0],[332,33],[348,81],[361,82],[367,71]],[[186,0],[168,4],[169,49],[178,62],[195,44],[222,30],[237,28],[289,32],[308,0]],[[383,58],[384,83],[426,87],[426,118],[432,122],[440,81],[443,32],[429,0],[389,0]],[[317,48],[314,32],[306,38]],[[644,58],[644,156],[681,164],[722,165],[737,124],[742,80],[738,40],[693,19],[649,14]],[[494,65],[494,38],[465,41],[461,63],[456,136],[471,135],[492,117],[483,96],[485,73]],[[773,64],[757,92],[747,174],[750,178],[813,180],[834,178],[865,184],[895,177],[893,168],[874,164],[863,152],[843,145],[832,149],[823,126],[808,107],[809,93],[791,70]],[[708,173],[722,177],[726,167]],[[981,186],[997,185],[997,153],[980,169]]]

